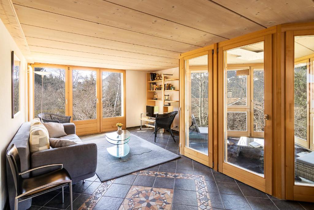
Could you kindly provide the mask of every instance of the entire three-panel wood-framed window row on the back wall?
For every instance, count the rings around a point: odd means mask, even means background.
[[[78,135],[116,130],[116,123],[126,128],[124,70],[50,64],[33,68],[50,73],[43,82],[34,73],[33,117],[41,113],[42,99],[42,112],[71,116]]]

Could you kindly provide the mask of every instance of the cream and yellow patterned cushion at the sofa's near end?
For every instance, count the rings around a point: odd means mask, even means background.
[[[35,118],[30,123],[30,152],[47,150],[50,148],[49,134],[46,127]]]

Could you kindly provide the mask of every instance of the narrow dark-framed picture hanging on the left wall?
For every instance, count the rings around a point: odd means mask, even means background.
[[[19,58],[11,51],[11,117],[20,111],[20,65]]]

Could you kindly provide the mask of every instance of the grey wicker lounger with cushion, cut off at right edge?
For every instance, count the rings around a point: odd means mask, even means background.
[[[295,159],[295,176],[314,181],[314,152]]]

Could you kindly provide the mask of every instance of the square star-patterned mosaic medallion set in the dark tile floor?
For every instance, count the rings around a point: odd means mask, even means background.
[[[170,210],[172,198],[173,190],[170,189],[132,186],[119,210]]]

